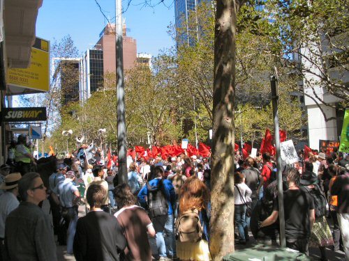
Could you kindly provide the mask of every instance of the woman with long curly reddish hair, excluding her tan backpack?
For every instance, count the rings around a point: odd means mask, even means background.
[[[177,256],[181,260],[211,260],[209,254],[209,190],[195,175],[188,177],[181,187],[179,216],[188,210],[198,210],[202,226],[199,242],[176,242]]]

